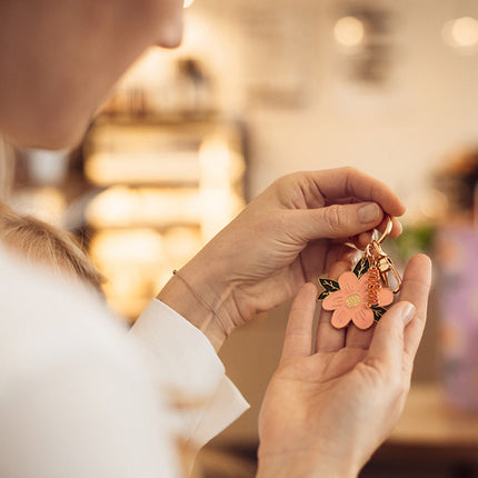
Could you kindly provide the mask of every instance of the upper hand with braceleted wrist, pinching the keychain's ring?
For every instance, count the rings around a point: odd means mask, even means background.
[[[356,237],[365,247],[370,230],[386,226],[384,212],[401,216],[405,206],[386,185],[355,169],[286,176],[181,269],[189,289],[202,301],[191,297],[179,278],[171,279],[159,298],[219,348],[235,327],[289,299],[322,273],[330,266],[326,258],[342,256],[345,242]],[[400,232],[395,219],[390,236]],[[220,317],[222,329],[205,303]]]

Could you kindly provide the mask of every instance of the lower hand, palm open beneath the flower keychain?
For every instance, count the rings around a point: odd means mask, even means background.
[[[337,278],[347,265],[338,262]],[[258,477],[356,477],[396,425],[424,331],[430,261],[414,257],[399,302],[367,331],[337,330],[305,285],[289,316],[282,357],[259,417]]]

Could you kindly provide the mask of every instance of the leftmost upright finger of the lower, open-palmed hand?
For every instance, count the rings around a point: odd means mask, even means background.
[[[305,283],[299,289],[290,308],[281,362],[310,356],[316,301],[317,287],[310,282]]]

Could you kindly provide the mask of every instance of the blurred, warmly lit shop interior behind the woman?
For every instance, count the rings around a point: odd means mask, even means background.
[[[384,248],[399,267],[430,253],[436,277],[410,399],[361,476],[478,476],[478,2],[187,6],[182,47],[146,52],[79,148],[3,151],[3,199],[73,231],[133,322],[276,178],[340,166],[378,177],[408,206]],[[221,350],[252,407],[201,452],[198,476],[253,476],[287,310]]]

